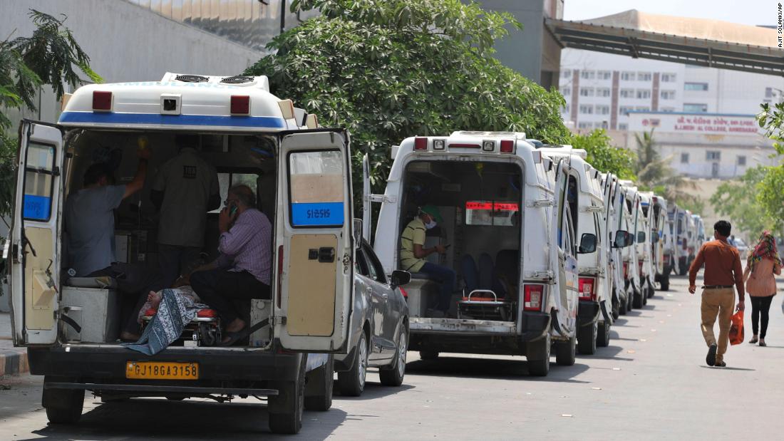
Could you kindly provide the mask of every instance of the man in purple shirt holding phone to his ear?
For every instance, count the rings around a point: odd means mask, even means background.
[[[270,298],[272,225],[256,209],[256,196],[249,186],[233,186],[220,211],[220,256],[191,274],[191,286],[226,324],[223,345],[248,336],[248,324],[232,300]]]

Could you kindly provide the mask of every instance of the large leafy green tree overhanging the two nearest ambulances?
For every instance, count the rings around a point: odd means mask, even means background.
[[[512,16],[459,0],[295,0],[321,16],[274,38],[274,54],[250,67],[273,92],[321,125],[352,134],[354,172],[367,153],[373,186],[386,182],[390,147],[408,136],[454,130],[525,132],[567,143],[564,99],[492,57],[519,28]]]

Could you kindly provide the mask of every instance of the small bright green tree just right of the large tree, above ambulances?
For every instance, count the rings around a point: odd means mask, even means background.
[[[634,175],[634,154],[624,148],[612,146],[612,140],[603,128],[597,128],[586,135],[572,135],[572,146],[588,152],[589,164],[601,172],[610,172],[620,179],[636,179]]]

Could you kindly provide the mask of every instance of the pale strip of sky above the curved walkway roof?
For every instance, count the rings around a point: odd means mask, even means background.
[[[586,20],[629,9],[751,25],[775,25],[779,2],[771,0],[564,0],[564,20]]]

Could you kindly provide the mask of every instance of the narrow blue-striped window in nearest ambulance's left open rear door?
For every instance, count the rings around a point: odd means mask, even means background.
[[[52,215],[54,146],[29,143],[24,171],[24,219],[48,221]]]

